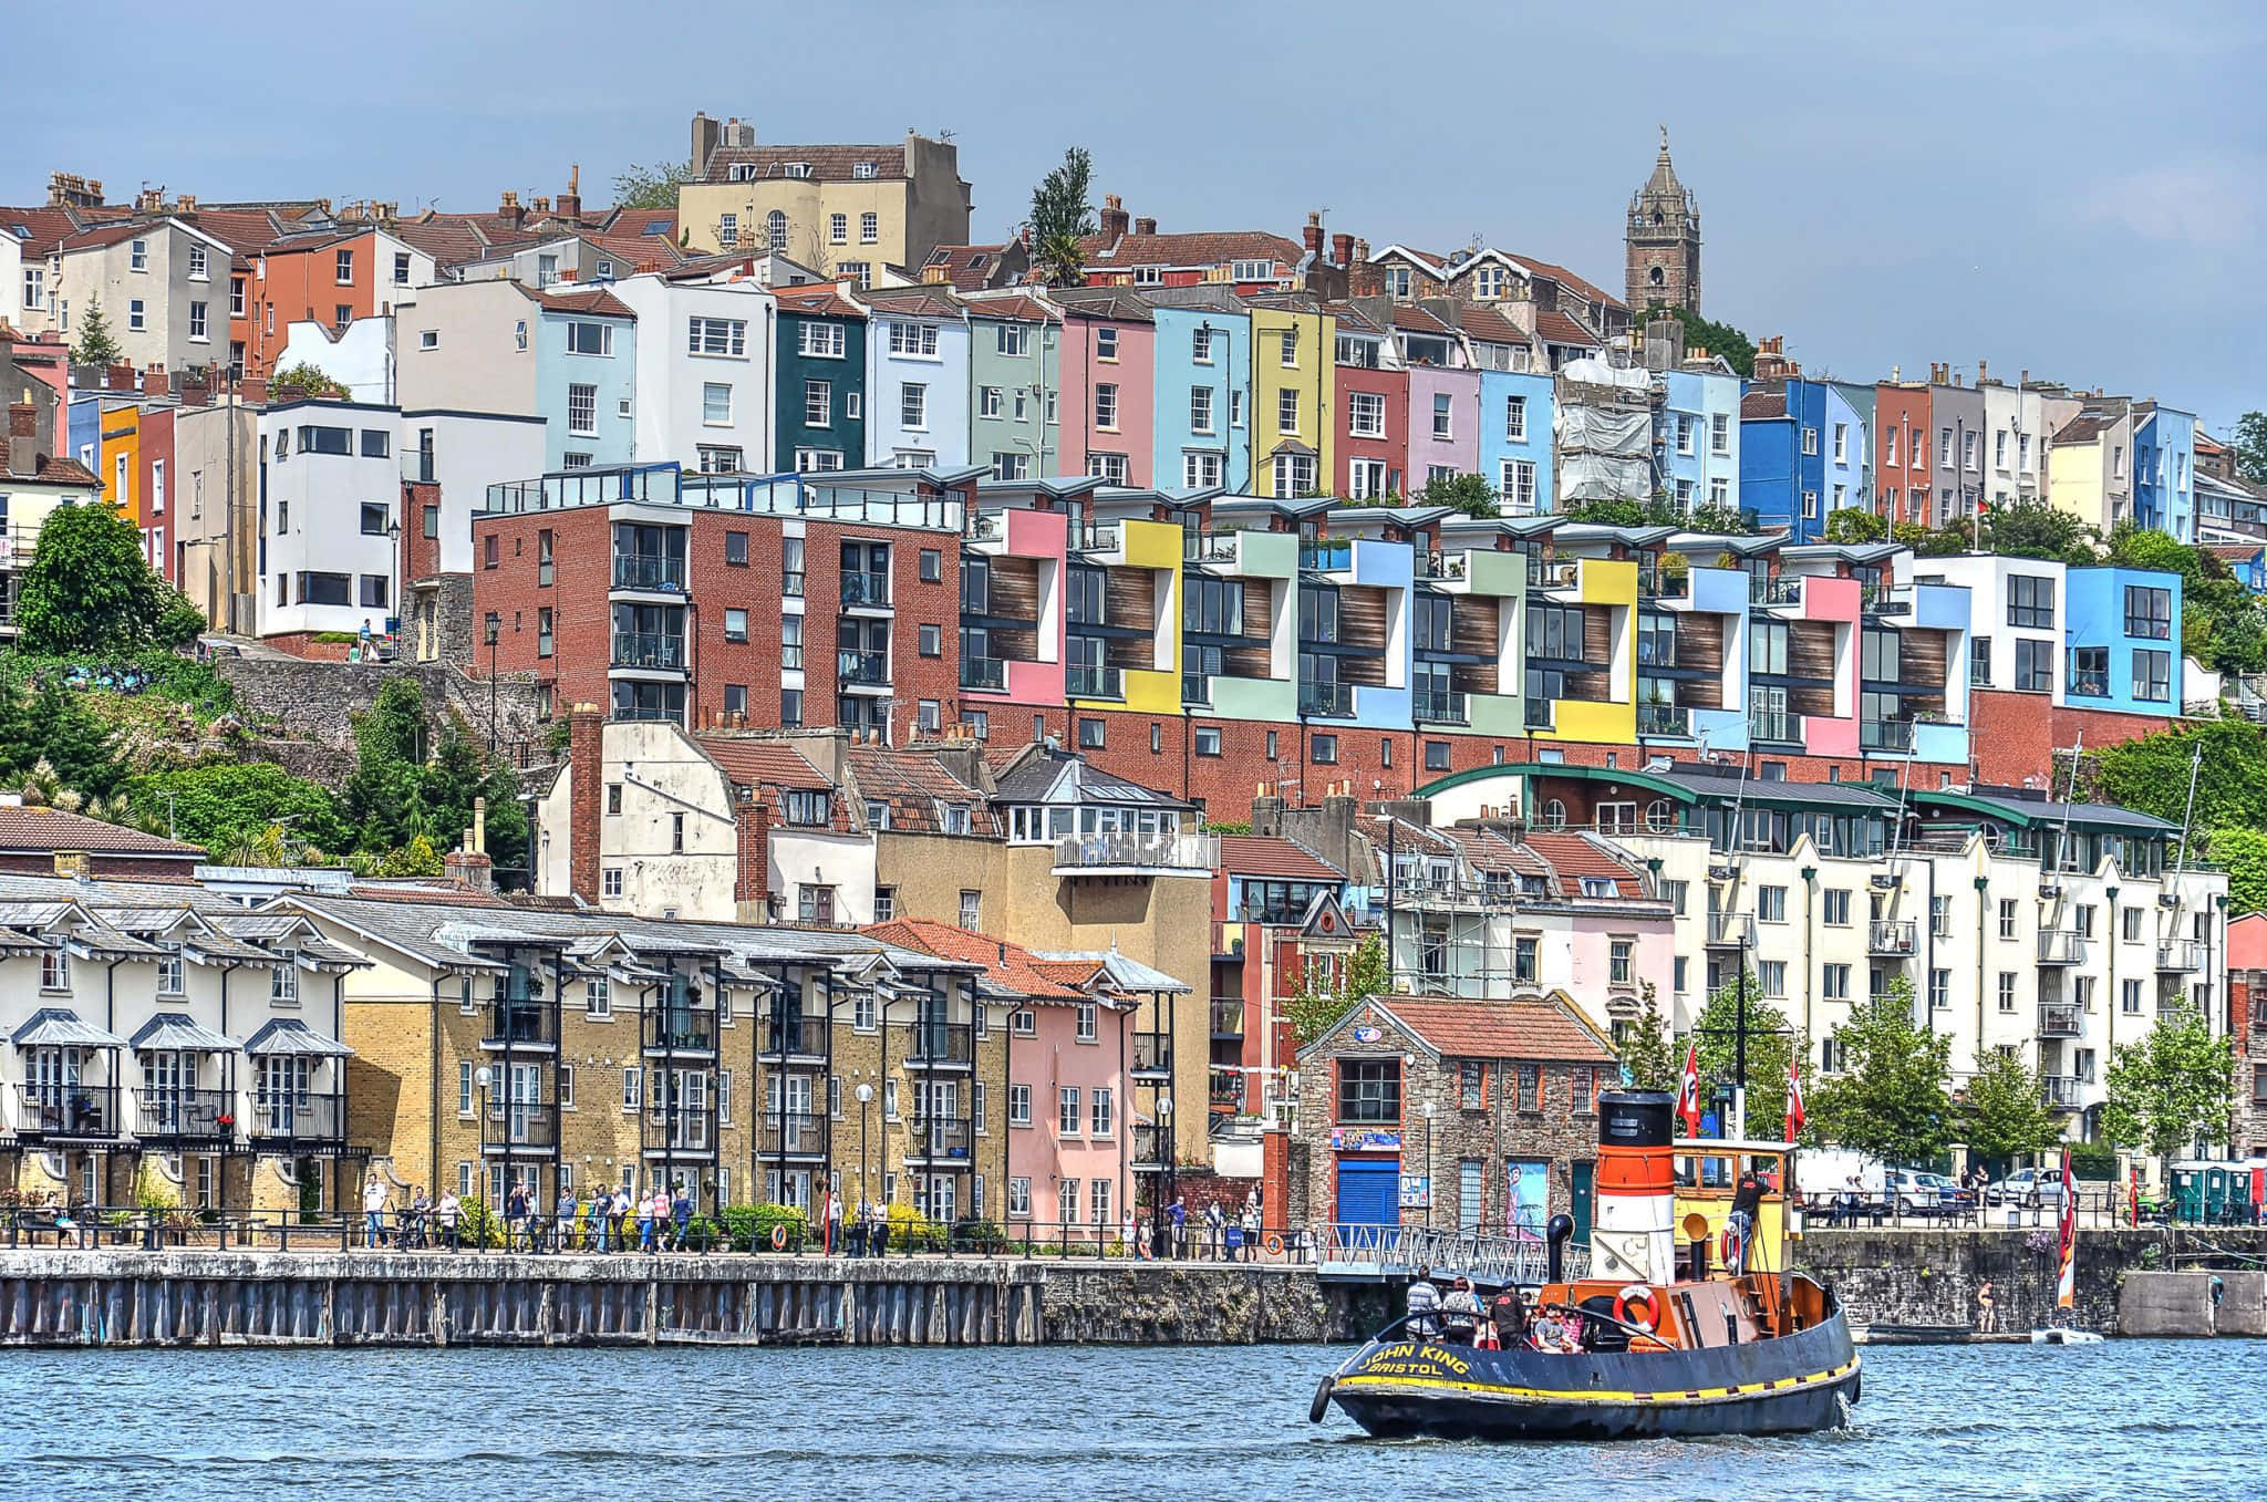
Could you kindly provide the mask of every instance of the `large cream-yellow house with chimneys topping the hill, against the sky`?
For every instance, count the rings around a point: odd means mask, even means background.
[[[968,242],[959,147],[907,131],[898,145],[757,145],[744,120],[694,116],[694,179],[678,188],[687,249],[780,254],[868,283]]]

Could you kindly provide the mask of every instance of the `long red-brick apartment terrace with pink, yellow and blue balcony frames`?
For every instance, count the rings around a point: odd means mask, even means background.
[[[492,628],[496,671],[614,718],[1052,739],[1213,809],[1696,752],[1791,782],[2020,782],[2081,732],[2172,723],[2176,684],[2163,716],[2097,709],[2068,664],[1986,689],[1970,659],[2004,623],[1941,566],[975,469],[587,469],[490,489],[472,662]]]

